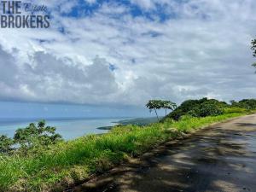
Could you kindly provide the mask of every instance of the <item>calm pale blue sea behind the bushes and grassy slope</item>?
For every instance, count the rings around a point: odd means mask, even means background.
[[[108,130],[98,127],[117,125],[119,120],[129,118],[90,118],[90,119],[46,119],[46,125],[55,126],[65,140],[71,140],[89,134],[106,133]],[[30,123],[37,123],[39,119],[0,119],[0,135],[13,137],[15,130],[25,128]]]

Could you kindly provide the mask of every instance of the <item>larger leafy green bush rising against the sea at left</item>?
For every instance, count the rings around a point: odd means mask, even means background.
[[[45,121],[38,122],[38,126],[31,123],[24,129],[15,131],[14,141],[21,148],[28,149],[35,146],[47,147],[49,144],[57,143],[61,140],[61,135],[55,133],[55,127],[45,126]]]

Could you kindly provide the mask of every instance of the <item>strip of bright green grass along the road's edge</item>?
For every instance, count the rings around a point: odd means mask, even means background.
[[[166,120],[147,126],[125,125],[108,134],[79,137],[59,143],[40,154],[22,157],[0,156],[0,191],[61,191],[87,179],[93,173],[105,172],[128,157],[145,153],[160,143],[203,126],[241,116],[225,113],[206,118],[184,117],[178,122]],[[169,131],[175,128],[177,131]]]

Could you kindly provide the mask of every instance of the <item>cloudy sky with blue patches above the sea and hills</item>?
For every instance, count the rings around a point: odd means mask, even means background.
[[[50,27],[0,30],[0,117],[145,116],[149,99],[256,97],[255,0],[32,2]]]

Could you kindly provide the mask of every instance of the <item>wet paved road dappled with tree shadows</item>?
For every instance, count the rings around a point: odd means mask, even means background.
[[[166,143],[73,191],[256,192],[256,114]]]

